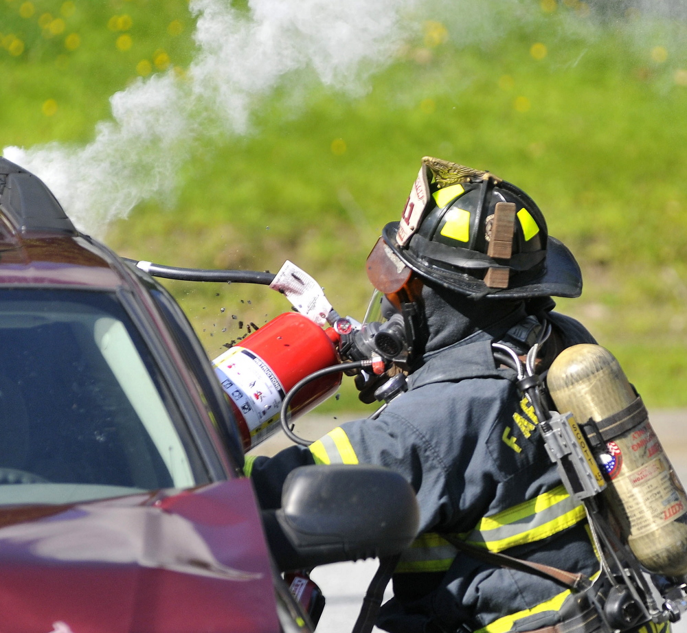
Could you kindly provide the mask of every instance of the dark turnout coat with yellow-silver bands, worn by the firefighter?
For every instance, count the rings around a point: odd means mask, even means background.
[[[563,347],[594,343],[574,319],[548,315]],[[592,577],[598,559],[583,507],[561,485],[537,418],[491,343],[524,354],[539,328],[521,310],[494,335],[477,331],[427,354],[409,391],[374,419],[346,422],[275,457],[247,457],[262,507],[278,507],[286,475],[312,463],[371,463],[405,476],[420,533],[403,554],[377,625],[394,633],[528,631],[556,623],[570,591],[457,550],[442,534]]]

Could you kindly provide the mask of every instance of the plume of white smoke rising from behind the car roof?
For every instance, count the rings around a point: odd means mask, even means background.
[[[6,159],[39,176],[83,231],[102,235],[141,200],[173,196],[194,141],[207,128],[245,133],[256,99],[293,71],[343,89],[390,62],[416,22],[418,0],[192,0],[197,52],[188,71],[111,97],[112,119],[85,147],[8,147]]]

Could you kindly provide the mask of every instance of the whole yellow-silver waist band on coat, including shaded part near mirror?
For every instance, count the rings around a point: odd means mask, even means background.
[[[539,496],[483,518],[469,533],[454,534],[493,552],[543,540],[586,518],[582,505],[560,485]],[[458,551],[436,533],[421,534],[401,555],[397,573],[446,571]]]

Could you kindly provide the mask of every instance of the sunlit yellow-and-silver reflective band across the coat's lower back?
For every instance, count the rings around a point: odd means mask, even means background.
[[[542,540],[586,518],[585,509],[561,485],[549,492],[483,518],[466,543],[492,552]]]

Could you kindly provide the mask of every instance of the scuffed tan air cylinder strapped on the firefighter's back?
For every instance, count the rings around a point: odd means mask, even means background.
[[[632,553],[646,569],[687,574],[687,495],[618,360],[599,345],[574,345],[546,379],[559,411],[593,422],[609,485],[602,496]]]

